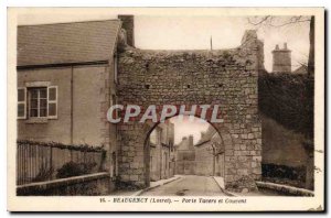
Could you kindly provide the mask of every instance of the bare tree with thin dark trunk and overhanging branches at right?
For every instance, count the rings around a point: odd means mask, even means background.
[[[307,87],[305,87],[305,97],[306,98],[311,98],[311,100],[306,100],[305,102],[308,102],[302,107],[302,102],[297,102],[298,99],[295,96],[291,96],[290,92],[284,92],[284,95],[287,95],[286,98],[293,102],[291,106],[287,106],[285,102],[281,103],[281,108],[284,110],[282,113],[280,115],[281,117],[287,117],[288,115],[298,113],[299,108],[305,108],[303,111],[301,111],[302,116],[305,117],[305,122],[301,123],[301,128],[305,129],[305,127],[309,126],[308,129],[312,129],[312,131],[303,131],[302,133],[305,134],[305,140],[302,141],[302,145],[306,150],[307,153],[307,168],[306,168],[306,187],[309,189],[313,188],[313,151],[314,151],[314,145],[313,145],[313,75],[314,75],[314,17],[302,17],[302,15],[297,15],[297,17],[273,17],[273,15],[266,15],[266,17],[252,17],[248,18],[248,23],[256,26],[256,28],[284,28],[287,25],[298,25],[299,23],[305,23],[309,22],[309,56],[308,56],[308,64],[307,64],[307,75],[308,75],[308,80],[312,80],[312,83],[307,83]],[[305,66],[305,62],[299,63],[301,66]],[[309,86],[309,84],[311,84]],[[268,87],[268,86],[266,86]],[[261,87],[263,88],[263,87]],[[275,88],[275,87],[274,87]],[[281,91],[284,88],[278,88],[277,91]],[[269,96],[273,97],[273,88],[265,89],[265,91],[268,92]],[[275,90],[276,91],[276,90]],[[275,92],[274,92],[275,94]],[[281,95],[281,92],[278,95]],[[285,97],[285,96],[284,96]],[[282,97],[280,97],[282,98]],[[274,103],[277,102],[275,101]],[[259,100],[264,100],[259,98]],[[268,99],[265,99],[268,100]],[[280,100],[281,101],[281,100]],[[287,101],[288,102],[288,101]],[[300,107],[296,105],[300,105]],[[286,110],[287,107],[287,110]],[[291,108],[292,107],[292,108]],[[286,110],[286,112],[285,112]],[[298,122],[299,123],[299,122]],[[298,124],[297,123],[297,124]],[[306,123],[306,124],[305,124]]]

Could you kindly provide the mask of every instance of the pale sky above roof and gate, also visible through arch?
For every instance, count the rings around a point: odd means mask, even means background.
[[[116,10],[115,10],[116,11]],[[100,9],[92,12],[90,9],[79,9],[67,13],[66,10],[52,9],[52,12],[35,13],[25,10],[18,17],[19,24],[44,24],[73,21],[90,21],[116,19],[117,13]],[[135,15],[135,43],[142,50],[210,50],[210,40],[213,50],[234,48],[241,45],[245,30],[256,29],[248,23],[246,17],[222,15],[189,15],[175,13],[174,15]],[[308,61],[309,53],[309,23],[299,23],[284,28],[259,28],[258,37],[264,42],[265,67],[273,68],[271,51],[276,44],[280,48],[286,42],[292,51],[292,69]],[[175,143],[182,137],[193,134],[194,142],[200,139],[200,132],[205,131],[209,123],[179,122],[175,119]]]

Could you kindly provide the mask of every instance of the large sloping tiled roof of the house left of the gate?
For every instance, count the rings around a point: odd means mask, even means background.
[[[119,29],[119,20],[21,25],[18,66],[108,61]]]

